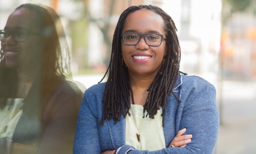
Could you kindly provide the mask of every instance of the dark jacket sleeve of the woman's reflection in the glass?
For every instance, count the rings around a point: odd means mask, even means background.
[[[39,153],[72,153],[82,95],[69,85],[60,86],[54,93],[43,115],[46,126]]]

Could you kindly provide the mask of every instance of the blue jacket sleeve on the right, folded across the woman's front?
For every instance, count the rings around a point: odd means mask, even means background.
[[[132,146],[125,145],[118,149],[117,154],[211,154],[219,130],[216,90],[213,85],[201,78],[194,84],[196,84],[194,88],[191,88],[192,85],[187,85],[190,88],[182,88],[181,118],[176,119],[179,121],[176,122],[179,124],[179,130],[186,128],[185,134],[193,135],[191,143],[183,148],[172,147],[157,151],[136,150]]]

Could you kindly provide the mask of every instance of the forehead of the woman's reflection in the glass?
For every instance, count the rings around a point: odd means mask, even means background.
[[[26,8],[20,8],[11,13],[6,22],[5,29],[28,29],[38,27],[38,19],[35,13]]]

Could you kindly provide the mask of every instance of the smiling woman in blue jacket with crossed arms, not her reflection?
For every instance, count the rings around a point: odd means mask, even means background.
[[[154,6],[126,9],[108,80],[85,91],[73,152],[211,153],[219,126],[215,88],[179,73],[179,62],[171,17]]]

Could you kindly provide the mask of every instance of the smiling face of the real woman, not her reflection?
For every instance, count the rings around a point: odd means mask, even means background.
[[[127,16],[122,33],[157,33],[165,35],[162,17],[149,10],[138,10]],[[122,38],[123,39],[123,38]],[[165,39],[160,46],[148,46],[143,37],[137,45],[122,43],[122,56],[129,75],[155,76],[165,55]]]

